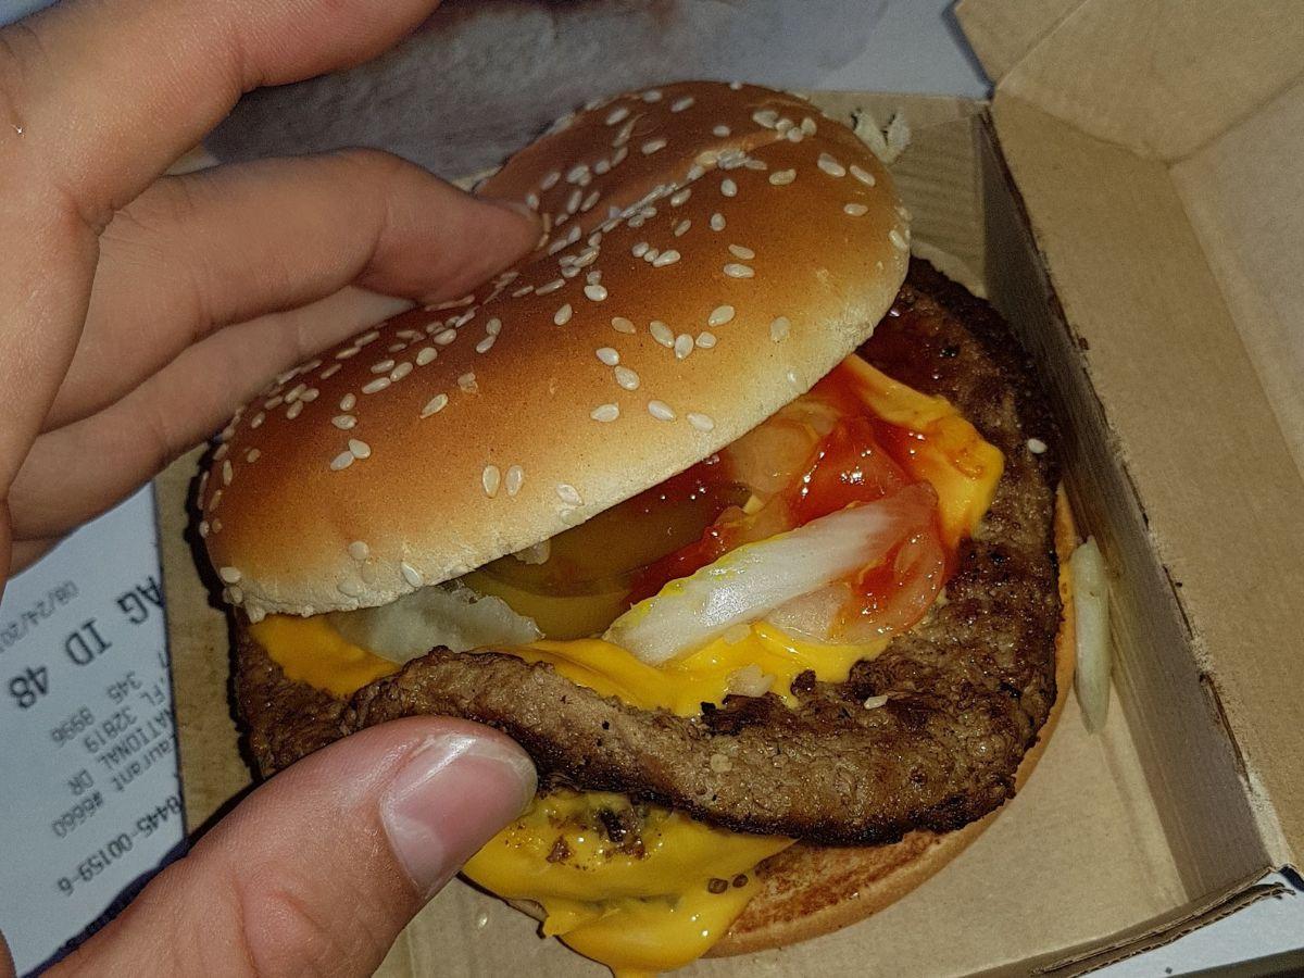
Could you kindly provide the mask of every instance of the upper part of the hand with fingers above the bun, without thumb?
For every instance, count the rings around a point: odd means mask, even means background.
[[[269,377],[535,243],[376,151],[160,177],[241,91],[366,60],[433,5],[83,0],[0,31],[0,588]]]

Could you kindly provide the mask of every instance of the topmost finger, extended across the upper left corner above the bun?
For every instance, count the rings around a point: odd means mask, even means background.
[[[436,3],[59,4],[0,31],[0,172],[98,231],[241,93],[373,57]]]

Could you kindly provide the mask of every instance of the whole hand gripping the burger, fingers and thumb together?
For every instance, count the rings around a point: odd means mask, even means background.
[[[83,0],[0,30],[0,589],[269,377],[535,243],[379,153],[160,177],[241,91],[365,60],[430,7]],[[254,792],[61,969],[369,973],[532,793],[493,732],[376,728]]]

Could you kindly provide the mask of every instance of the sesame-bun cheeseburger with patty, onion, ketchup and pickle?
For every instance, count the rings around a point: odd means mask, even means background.
[[[276,378],[201,476],[258,772],[503,730],[540,793],[466,874],[622,973],[872,913],[1013,794],[1072,674],[1026,357],[793,95],[627,93],[482,189],[535,252]]]

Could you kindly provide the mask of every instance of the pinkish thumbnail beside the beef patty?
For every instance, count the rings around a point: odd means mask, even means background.
[[[408,879],[430,897],[535,797],[535,765],[494,737],[428,738],[381,797],[381,823]]]

